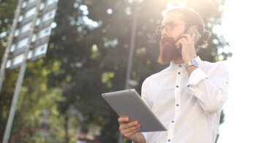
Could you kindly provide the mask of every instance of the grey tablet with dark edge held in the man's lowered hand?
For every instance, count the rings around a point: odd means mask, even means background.
[[[143,102],[135,89],[102,93],[102,97],[119,116],[129,117],[129,122],[138,120],[139,132],[166,131],[166,128]]]

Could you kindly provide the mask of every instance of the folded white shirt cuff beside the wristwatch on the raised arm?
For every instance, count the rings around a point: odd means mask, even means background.
[[[201,80],[204,79],[208,79],[208,76],[201,69],[197,68],[190,74],[187,86],[197,85]]]

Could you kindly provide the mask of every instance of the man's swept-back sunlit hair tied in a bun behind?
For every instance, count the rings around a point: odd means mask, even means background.
[[[210,33],[204,29],[203,19],[198,15],[195,10],[189,7],[176,7],[173,9],[167,10],[165,15],[169,12],[179,12],[182,15],[181,20],[184,20],[185,23],[188,23],[192,26],[197,26],[197,31],[201,34],[201,39],[198,41],[195,48],[198,50],[199,47],[206,47],[208,45],[207,41],[209,39]],[[186,31],[189,29],[187,27]]]

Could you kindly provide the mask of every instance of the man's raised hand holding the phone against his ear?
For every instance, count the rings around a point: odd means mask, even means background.
[[[176,42],[176,48],[181,51],[182,59],[184,63],[187,63],[192,58],[196,58],[194,45],[195,33],[190,36],[189,34],[182,34],[181,39]]]

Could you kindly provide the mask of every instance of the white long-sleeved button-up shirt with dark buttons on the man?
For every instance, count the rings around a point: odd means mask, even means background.
[[[148,77],[143,101],[167,131],[143,133],[147,143],[214,143],[222,105],[227,99],[228,71],[223,62],[196,58],[199,68],[188,75],[185,63]]]

